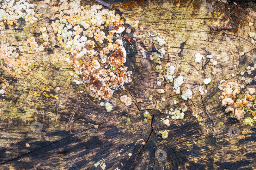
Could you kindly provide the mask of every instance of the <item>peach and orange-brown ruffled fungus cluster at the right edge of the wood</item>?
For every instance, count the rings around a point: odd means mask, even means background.
[[[226,107],[225,112],[230,112],[231,117],[242,121],[246,111],[250,111],[253,116],[256,116],[251,110],[255,103],[255,88],[247,88],[247,90],[241,93],[242,85],[250,83],[251,80],[245,77],[238,77],[238,80],[238,82],[222,80],[218,86],[223,91],[219,99],[222,100],[221,105]]]

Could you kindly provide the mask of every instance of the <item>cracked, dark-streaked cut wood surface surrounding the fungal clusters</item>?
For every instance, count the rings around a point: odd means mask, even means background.
[[[125,66],[133,72],[132,82],[125,84],[125,90],[114,92],[111,102],[115,103],[115,108],[110,113],[100,106],[102,100],[88,96],[76,111],[71,134],[69,118],[87,95],[87,90],[82,84],[68,81],[74,67],[58,63],[54,57],[56,35],[48,27],[52,48],[45,49],[43,55],[23,53],[26,58],[42,61],[35,62],[32,70],[35,75],[20,79],[0,70],[0,79],[9,82],[6,93],[0,94],[3,102],[0,105],[0,169],[255,169],[255,125],[251,127],[225,113],[219,99],[222,91],[218,89],[222,79],[229,77],[229,81],[236,81],[239,71],[255,64],[256,47],[248,36],[248,32],[256,32],[254,3],[237,2],[235,5],[214,0],[108,2],[114,3],[116,13],[124,20],[136,17],[140,21],[139,26],[144,29],[133,29],[134,34],[153,30],[165,37],[167,44],[162,47],[166,55],[161,59],[162,66],[170,62],[176,67],[174,75],[184,77],[181,91],[191,88],[192,99],[179,98],[173,83],[163,82],[161,87],[157,86],[158,73],[156,64],[149,59],[151,53],[146,50],[143,55],[139,48],[151,50],[152,44],[143,43],[143,39],[132,40],[132,44],[123,41],[127,51]],[[82,3],[96,4],[94,1]],[[203,3],[209,4],[209,8],[202,8]],[[51,13],[44,9],[38,12],[42,13],[39,23],[51,22]],[[22,20],[18,29],[6,25],[8,34],[4,39],[7,42],[17,45],[31,36],[32,25]],[[253,26],[249,27],[248,22],[253,22]],[[214,31],[212,24],[232,26],[232,29]],[[37,42],[43,42],[39,34],[32,34]],[[153,48],[162,47],[154,44]],[[241,52],[245,55],[239,55]],[[196,53],[211,54],[218,64],[209,65],[209,59],[197,63],[194,61]],[[255,88],[255,73],[245,76],[253,78],[247,87]],[[198,88],[205,78],[214,82],[212,87],[207,86],[208,93],[201,96]],[[158,88],[163,88],[165,93],[157,93]],[[124,94],[133,100],[130,106],[120,101]],[[150,94],[153,95],[151,101]],[[137,98],[143,102],[137,103]],[[157,103],[162,98],[166,101]],[[174,100],[179,103],[175,105]],[[179,108],[183,102],[188,107],[183,120],[170,119],[169,127],[160,121],[167,116],[165,110]],[[33,103],[35,105],[31,105]],[[143,113],[146,110],[152,119],[145,123]],[[197,119],[192,116],[194,110],[199,112]],[[249,116],[246,113],[245,117]],[[31,129],[35,121],[39,122],[38,132]],[[217,126],[219,122],[224,125]],[[96,129],[94,125],[99,126]],[[246,129],[247,137],[238,140],[229,136],[229,128],[233,126],[241,131]],[[167,139],[162,139],[161,130],[169,131]],[[26,143],[30,147],[26,147]]]

